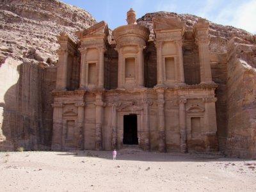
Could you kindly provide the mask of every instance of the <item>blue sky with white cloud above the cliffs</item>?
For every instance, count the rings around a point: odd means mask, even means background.
[[[256,34],[256,0],[60,0],[82,8],[100,22],[115,29],[126,23],[126,12],[133,8],[137,19],[152,12],[189,13],[225,26]]]

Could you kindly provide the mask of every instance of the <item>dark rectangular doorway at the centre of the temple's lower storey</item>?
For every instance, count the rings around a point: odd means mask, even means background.
[[[137,115],[124,115],[124,145],[138,145]]]

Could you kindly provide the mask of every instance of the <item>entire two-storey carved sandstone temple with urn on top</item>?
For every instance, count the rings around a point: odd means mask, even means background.
[[[78,31],[78,42],[58,37],[52,150],[218,150],[209,23],[198,20],[184,35],[178,19],[152,22],[150,35],[131,9],[113,31],[102,21]]]

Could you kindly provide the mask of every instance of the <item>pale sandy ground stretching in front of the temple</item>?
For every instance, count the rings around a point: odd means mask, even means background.
[[[256,191],[256,161],[209,154],[0,152],[0,191]]]

